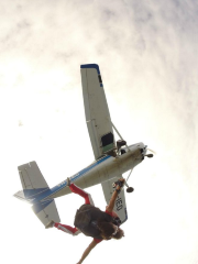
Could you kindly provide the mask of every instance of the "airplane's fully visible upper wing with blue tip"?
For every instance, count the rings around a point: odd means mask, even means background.
[[[95,158],[103,154],[116,156],[114,135],[97,64],[80,66],[84,106]]]

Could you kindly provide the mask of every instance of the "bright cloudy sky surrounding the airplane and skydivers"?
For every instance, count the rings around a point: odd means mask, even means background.
[[[0,1],[1,262],[77,263],[91,242],[45,230],[13,194],[19,165],[53,187],[94,161],[80,65],[96,63],[121,135],[156,155],[129,179],[125,238],[84,263],[198,264],[197,24],[195,0]],[[106,207],[101,186],[87,191]],[[56,199],[62,223],[81,202]]]

